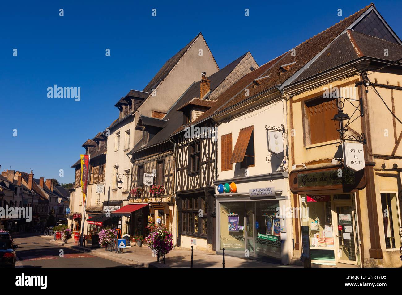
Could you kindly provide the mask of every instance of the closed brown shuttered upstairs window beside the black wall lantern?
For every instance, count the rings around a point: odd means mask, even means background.
[[[306,102],[310,144],[326,142],[339,138],[339,124],[332,120],[338,113],[338,107],[334,98],[320,98]]]

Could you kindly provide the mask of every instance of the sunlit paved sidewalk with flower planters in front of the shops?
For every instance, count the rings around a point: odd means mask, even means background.
[[[191,250],[172,250],[166,255],[166,264],[163,259],[157,262],[156,257],[152,257],[152,252],[147,246],[132,246],[125,248],[123,254],[105,251],[105,248],[91,249],[89,246],[78,246],[77,243],[68,242],[63,244],[61,241],[50,240],[52,244],[72,248],[81,252],[90,252],[94,256],[99,256],[125,264],[136,264],[144,267],[191,267]],[[208,253],[204,251],[193,251],[193,267],[222,267],[222,255]],[[262,262],[248,258],[238,258],[225,256],[225,267],[297,267],[295,265],[275,264]]]

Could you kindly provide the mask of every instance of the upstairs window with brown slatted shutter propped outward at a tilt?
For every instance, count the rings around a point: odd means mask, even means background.
[[[240,129],[230,164],[240,163],[241,168],[255,165],[254,161],[254,126]]]

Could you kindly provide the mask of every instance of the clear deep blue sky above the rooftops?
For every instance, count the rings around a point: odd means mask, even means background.
[[[70,166],[84,152],[81,145],[117,118],[119,98],[142,90],[199,32],[220,68],[247,51],[262,65],[369,3],[2,1],[1,170],[33,169],[35,178],[73,182]],[[400,1],[375,4],[402,37]],[[81,100],[47,98],[53,84],[81,87]]]

